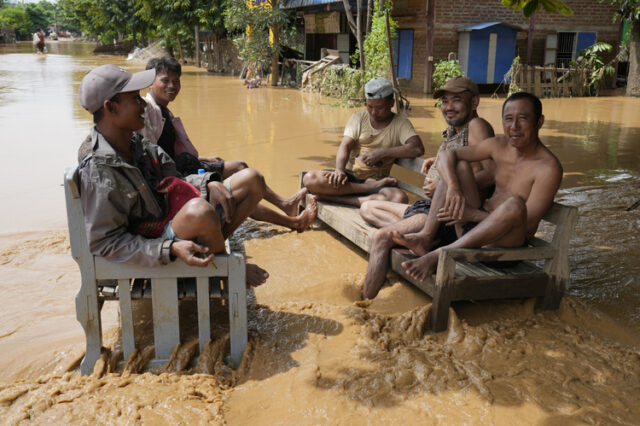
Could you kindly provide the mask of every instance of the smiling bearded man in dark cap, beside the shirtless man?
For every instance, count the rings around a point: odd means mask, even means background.
[[[433,97],[441,99],[440,109],[449,127],[442,133],[445,141],[438,149],[436,157],[423,163],[426,173],[424,191],[429,199],[418,200],[412,206],[391,201],[366,201],[360,207],[360,215],[370,224],[380,227],[374,235],[369,254],[367,275],[362,289],[363,298],[376,297],[384,283],[389,269],[389,251],[396,245],[391,235],[417,232],[424,227],[431,205],[431,197],[440,182],[441,154],[445,150],[462,146],[475,146],[484,139],[493,137],[493,128],[484,119],[478,117],[477,108],[480,98],[478,86],[467,77],[456,77],[437,90]],[[491,160],[471,164],[476,180],[482,190],[493,184],[493,164]]]

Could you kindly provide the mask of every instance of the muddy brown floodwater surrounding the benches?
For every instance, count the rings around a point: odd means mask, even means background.
[[[621,96],[543,101],[541,137],[565,171],[557,200],[580,209],[557,312],[536,311],[534,300],[457,303],[448,330],[426,334],[430,300],[398,277],[369,305],[354,304],[366,258],[333,232],[249,221],[237,236],[271,277],[251,296],[250,344],[237,370],[222,362],[217,323],[195,367],[184,367],[186,330],[166,371],[115,373],[113,356],[80,376],[79,273],[60,186],[91,126],[78,85],[100,64],[143,66],[90,51],[50,43],[41,57],[30,43],[0,47],[0,423],[638,423],[640,209],[625,208],[640,199],[640,100]],[[300,170],[333,165],[353,112],[193,67],[182,83],[172,110],[200,151],[245,160],[282,194],[296,190]],[[432,154],[444,122],[431,99],[410,100]],[[479,107],[498,133],[501,103],[483,97]],[[113,305],[103,321],[117,353]]]

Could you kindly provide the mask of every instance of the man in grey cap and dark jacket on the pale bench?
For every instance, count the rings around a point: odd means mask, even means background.
[[[179,257],[206,266],[260,201],[264,181],[252,169],[224,184],[212,173],[183,180],[162,148],[134,133],[144,126],[139,91],[154,78],[155,70],[102,65],[80,84],[80,104],[96,124],[79,150],[89,248],[115,262],[155,266]],[[247,265],[247,284],[267,277]]]

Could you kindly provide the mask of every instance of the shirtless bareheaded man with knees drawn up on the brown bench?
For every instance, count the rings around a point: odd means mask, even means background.
[[[420,256],[402,264],[409,276],[423,281],[435,273],[443,248],[520,247],[535,234],[562,181],[560,162],[538,137],[543,123],[540,100],[515,93],[502,106],[504,135],[443,153],[442,181],[424,228],[392,235]],[[482,202],[468,162],[485,159],[495,163],[496,189]],[[439,230],[452,224],[467,232],[432,250]]]

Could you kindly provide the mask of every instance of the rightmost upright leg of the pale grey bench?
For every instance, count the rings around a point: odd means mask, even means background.
[[[231,362],[237,367],[247,346],[247,284],[244,257],[229,256],[229,334]]]

